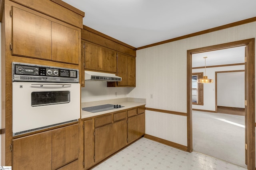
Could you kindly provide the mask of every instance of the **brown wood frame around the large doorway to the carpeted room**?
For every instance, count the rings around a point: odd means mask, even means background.
[[[234,41],[219,45],[212,45],[187,51],[187,146],[188,152],[192,152],[192,54],[206,51],[215,51],[231,47],[247,46],[247,57],[245,64],[246,98],[247,100],[247,168],[255,170],[255,38]]]

